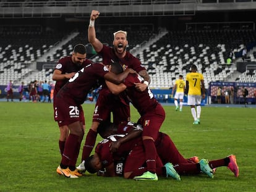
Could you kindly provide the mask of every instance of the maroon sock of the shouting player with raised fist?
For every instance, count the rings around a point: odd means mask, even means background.
[[[83,146],[82,161],[87,159],[90,156],[96,142],[96,137],[97,137],[97,133],[92,129],[90,129],[87,133],[85,144]]]

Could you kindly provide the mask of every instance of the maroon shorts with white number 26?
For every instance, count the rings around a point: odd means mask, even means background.
[[[85,118],[81,105],[77,105],[73,99],[70,98],[55,98],[54,99],[54,120],[58,122],[59,126],[69,125],[80,121],[85,125]]]

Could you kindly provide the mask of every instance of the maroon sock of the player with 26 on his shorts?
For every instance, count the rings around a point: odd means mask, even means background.
[[[65,149],[62,154],[61,164],[69,165],[69,161],[75,158],[76,149],[77,149],[77,141],[79,140],[79,136],[74,135],[72,133],[69,134],[67,138]],[[74,165],[75,166],[75,165]]]

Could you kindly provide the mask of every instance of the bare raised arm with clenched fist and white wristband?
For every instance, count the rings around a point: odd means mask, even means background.
[[[96,52],[100,52],[103,48],[103,44],[96,38],[96,31],[95,31],[95,19],[97,19],[100,15],[98,10],[92,10],[90,23],[88,26],[88,41],[92,44],[93,48]]]

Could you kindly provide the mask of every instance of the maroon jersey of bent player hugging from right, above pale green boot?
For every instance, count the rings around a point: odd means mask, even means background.
[[[129,74],[123,82],[124,85],[127,86],[126,93],[130,102],[132,102],[140,115],[152,111],[158,105],[158,101],[154,98],[154,95],[149,88],[145,91],[136,90],[134,83],[142,83],[142,81],[143,78],[134,73]]]

